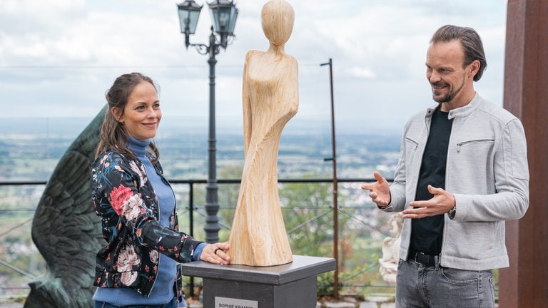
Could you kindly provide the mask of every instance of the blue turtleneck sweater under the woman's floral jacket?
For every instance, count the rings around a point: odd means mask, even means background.
[[[151,143],[150,140],[141,141],[135,138],[129,138],[129,148],[138,160],[145,165],[148,181],[152,184],[156,197],[158,198],[159,220],[163,226],[169,227],[169,217],[175,208],[175,195],[171,186],[168,185],[161,175],[156,173],[156,169],[146,157],[146,148]],[[201,246],[201,245],[200,245]],[[201,252],[201,250],[200,250]],[[199,257],[198,252],[196,257]],[[108,302],[117,306],[127,306],[134,304],[166,304],[171,302],[175,294],[173,284],[176,280],[177,263],[175,260],[160,254],[158,262],[158,275],[150,296],[143,297],[134,289],[127,288],[101,288],[96,289],[93,300],[97,302]]]

